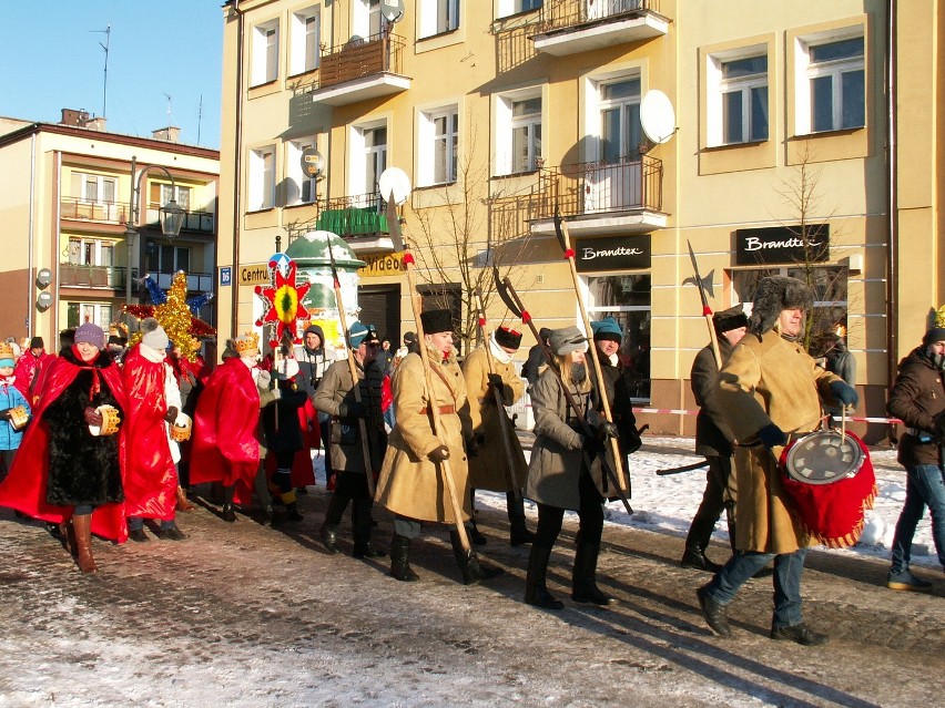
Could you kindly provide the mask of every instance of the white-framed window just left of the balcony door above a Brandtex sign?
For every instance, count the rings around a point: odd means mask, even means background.
[[[536,90],[496,102],[496,174],[538,170],[541,157],[541,94]]]

